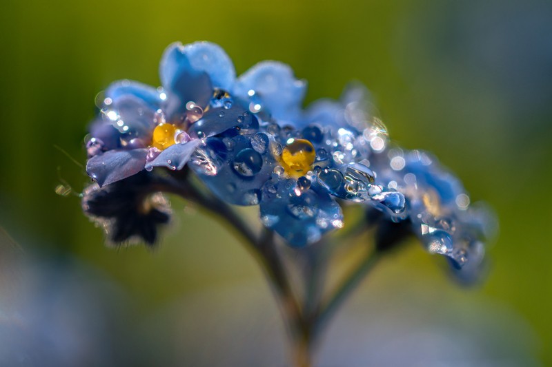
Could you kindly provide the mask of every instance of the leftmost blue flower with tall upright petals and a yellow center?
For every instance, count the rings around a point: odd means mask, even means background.
[[[237,118],[244,112],[293,114],[304,94],[304,83],[281,63],[236,78],[224,50],[207,42],[170,45],[159,77],[159,88],[119,81],[106,90],[87,143],[86,169],[100,186],[157,166],[182,169],[201,138],[244,128]]]

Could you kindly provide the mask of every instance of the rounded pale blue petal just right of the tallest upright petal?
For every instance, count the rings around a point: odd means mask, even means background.
[[[250,95],[250,90],[255,94]],[[306,82],[293,76],[293,70],[277,61],[263,61],[242,74],[233,94],[243,101],[257,101],[261,110],[279,120],[294,120],[299,115]]]

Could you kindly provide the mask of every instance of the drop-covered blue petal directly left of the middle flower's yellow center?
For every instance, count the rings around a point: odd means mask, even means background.
[[[208,138],[189,167],[221,200],[235,205],[259,204],[261,188],[277,165],[274,139],[264,133]]]

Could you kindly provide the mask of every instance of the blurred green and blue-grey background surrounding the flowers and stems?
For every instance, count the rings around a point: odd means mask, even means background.
[[[308,81],[306,103],[361,81],[392,138],[433,151],[499,217],[484,284],[449,282],[413,244],[344,307],[321,365],[392,365],[386,353],[418,353],[424,366],[552,365],[550,1],[4,0],[0,10],[0,339],[17,344],[0,361],[285,364],[262,271],[224,228],[173,200],[158,249],[108,249],[75,194],[89,182],[73,160],[86,160],[96,94],[121,78],[158,85],[166,45],[208,40],[238,74],[290,64]],[[57,195],[60,184],[73,193]],[[14,322],[10,307],[32,317]]]

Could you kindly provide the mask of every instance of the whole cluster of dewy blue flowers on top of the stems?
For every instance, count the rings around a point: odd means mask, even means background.
[[[303,109],[306,83],[290,67],[264,61],[236,76],[226,53],[206,42],[170,45],[159,74],[161,87],[119,81],[106,90],[87,143],[97,182],[88,202],[155,167],[193,171],[219,200],[259,205],[264,226],[292,247],[342,228],[342,207],[357,203],[408,223],[455,269],[478,269],[489,216],[435,158],[389,140],[363,87]]]

